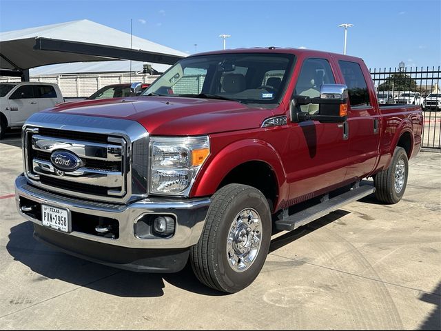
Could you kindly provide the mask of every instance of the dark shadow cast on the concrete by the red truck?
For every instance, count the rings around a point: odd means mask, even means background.
[[[322,228],[349,212],[337,210],[298,230],[287,232],[273,239],[269,252],[274,252],[305,235]],[[187,266],[174,274],[148,274],[120,270],[98,263],[92,263],[53,250],[34,240],[32,222],[25,221],[10,229],[6,249],[15,261],[27,265],[37,275],[37,280],[60,279],[99,292],[118,297],[161,297],[165,283],[177,288],[203,294],[210,297],[227,295],[207,288],[194,276],[192,268]]]

